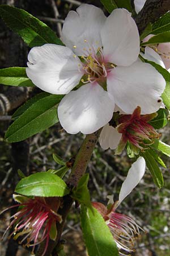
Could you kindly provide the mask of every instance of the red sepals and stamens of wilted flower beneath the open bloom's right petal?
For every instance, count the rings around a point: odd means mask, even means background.
[[[133,114],[121,115],[118,122],[118,133],[122,133],[120,145],[122,148],[129,141],[140,150],[144,150],[148,145],[154,143],[154,139],[160,134],[148,122],[155,118],[157,113],[141,115],[141,108],[138,106]]]

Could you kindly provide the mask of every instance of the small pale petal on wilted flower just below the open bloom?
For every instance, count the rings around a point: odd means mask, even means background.
[[[111,150],[113,150],[117,148],[121,137],[122,137],[122,134],[118,133],[118,131],[113,126],[110,126],[109,123],[107,123],[107,125],[103,127],[100,133],[100,137],[99,137],[100,146],[104,150],[107,150],[108,148],[111,148]]]

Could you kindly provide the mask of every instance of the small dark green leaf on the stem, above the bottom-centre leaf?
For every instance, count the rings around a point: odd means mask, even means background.
[[[73,198],[80,204],[84,204],[92,210],[90,192],[87,188],[89,174],[84,174],[79,180],[78,186],[73,190]]]

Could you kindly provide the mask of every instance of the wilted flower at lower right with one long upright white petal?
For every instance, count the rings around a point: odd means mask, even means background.
[[[145,159],[142,157],[139,157],[137,161],[132,164],[128,175],[122,184],[118,201],[115,203],[111,201],[112,206],[110,206],[109,209],[107,209],[105,205],[101,203],[92,203],[92,205],[103,216],[105,222],[111,230],[121,255],[129,255],[129,253],[134,251],[134,241],[140,237],[139,230],[143,229],[129,216],[117,213],[116,209],[122,200],[129,195],[129,193],[142,179],[143,175],[145,174],[145,167]]]

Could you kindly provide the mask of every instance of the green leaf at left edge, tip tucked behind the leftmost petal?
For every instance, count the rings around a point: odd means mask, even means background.
[[[12,86],[34,86],[28,79],[25,68],[12,67],[0,69],[0,84]]]

